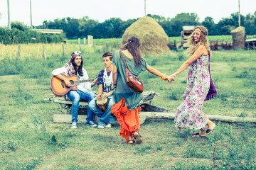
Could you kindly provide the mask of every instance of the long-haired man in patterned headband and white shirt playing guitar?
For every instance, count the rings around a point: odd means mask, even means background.
[[[75,74],[78,76],[78,79],[80,80],[86,80],[89,79],[88,74],[84,68],[82,68],[82,55],[81,52],[73,52],[70,60],[67,64],[65,64],[64,67],[54,69],[52,72],[53,76],[57,77],[58,79],[61,79],[65,82],[66,86],[72,86],[70,84],[70,81],[63,77],[62,74],[65,74],[66,76],[70,77],[71,75]],[[97,82],[97,79],[91,83],[81,83],[78,84],[78,90],[74,91],[71,90],[68,92],[67,96],[70,98],[72,103],[72,125],[70,128],[77,128],[77,122],[78,122],[78,108],[79,108],[79,101],[80,99],[83,99],[85,101],[88,101],[88,103],[92,100],[92,98],[95,98],[95,94],[90,91],[92,89],[92,86],[95,86]],[[97,125],[92,121],[92,111],[90,108],[87,108],[87,125],[90,125],[92,127],[97,127]]]

